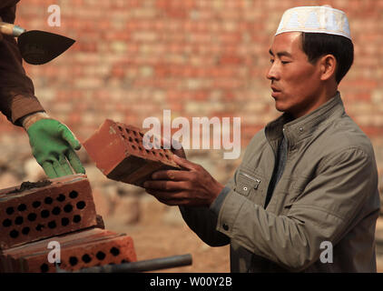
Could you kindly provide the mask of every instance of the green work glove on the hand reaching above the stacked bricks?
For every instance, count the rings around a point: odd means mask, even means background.
[[[68,127],[54,119],[40,119],[28,128],[27,133],[32,154],[47,176],[73,175],[69,164],[75,173],[85,174],[79,157],[74,153],[81,144]]]

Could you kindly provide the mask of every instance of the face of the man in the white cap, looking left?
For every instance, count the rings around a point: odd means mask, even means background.
[[[300,32],[276,35],[270,48],[271,96],[275,107],[295,118],[308,114],[320,94],[319,62],[310,64],[301,49]]]

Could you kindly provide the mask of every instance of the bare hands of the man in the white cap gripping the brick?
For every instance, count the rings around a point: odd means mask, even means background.
[[[143,184],[146,192],[169,206],[211,206],[224,186],[202,166],[176,155],[173,160],[184,170],[154,172],[153,180]]]

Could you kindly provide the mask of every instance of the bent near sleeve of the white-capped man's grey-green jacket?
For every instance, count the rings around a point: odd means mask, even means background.
[[[375,158],[358,148],[343,149],[322,161],[319,175],[285,216],[271,214],[231,190],[217,230],[258,256],[300,271],[319,259],[322,242],[335,246],[347,234],[354,216],[377,189]]]

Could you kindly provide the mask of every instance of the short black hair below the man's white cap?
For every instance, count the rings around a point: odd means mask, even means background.
[[[320,56],[334,55],[337,60],[335,79],[340,80],[349,72],[354,61],[354,45],[342,35],[329,35],[302,32],[302,50],[308,55],[309,62],[315,63]]]

